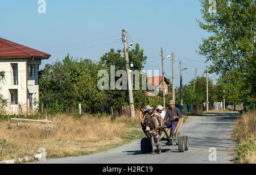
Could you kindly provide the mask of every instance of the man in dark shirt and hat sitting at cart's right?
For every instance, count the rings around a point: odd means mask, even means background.
[[[170,101],[169,105],[170,109],[167,109],[166,116],[164,117],[164,126],[171,128],[171,136],[173,136],[177,123],[179,123],[179,119],[182,117],[182,114],[180,113],[180,110],[175,107],[175,102],[173,100]]]

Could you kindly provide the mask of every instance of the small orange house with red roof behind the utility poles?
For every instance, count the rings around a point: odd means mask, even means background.
[[[148,76],[148,84],[152,86],[158,86],[159,91],[163,91],[163,76]],[[165,94],[168,94],[168,86],[170,86],[170,82],[164,77],[164,92]],[[151,93],[146,92],[146,95],[152,96]]]

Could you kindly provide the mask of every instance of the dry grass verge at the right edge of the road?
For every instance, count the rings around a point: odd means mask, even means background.
[[[238,141],[237,163],[256,164],[256,113],[250,111],[237,120],[233,136]]]

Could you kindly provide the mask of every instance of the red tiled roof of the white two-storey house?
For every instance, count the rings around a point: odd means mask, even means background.
[[[0,38],[0,57],[41,57],[48,59],[51,55],[26,47],[24,45],[14,43],[3,38]]]

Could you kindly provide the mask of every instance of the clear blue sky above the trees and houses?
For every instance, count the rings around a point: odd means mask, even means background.
[[[40,68],[67,53],[74,58],[100,60],[110,48],[122,49],[121,31],[139,43],[148,56],[145,69],[162,73],[160,48],[175,53],[175,85],[179,86],[179,61],[183,61],[183,84],[202,76],[205,59],[196,53],[202,38],[199,0],[46,0],[46,14],[39,14],[38,0],[0,2],[1,37],[51,54]],[[171,78],[171,59],[164,60]],[[204,74],[205,76],[205,74]],[[210,77],[214,83],[218,78]]]

